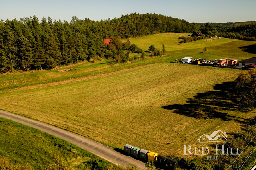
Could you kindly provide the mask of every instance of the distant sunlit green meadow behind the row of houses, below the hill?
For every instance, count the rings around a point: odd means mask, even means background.
[[[255,45],[255,41],[241,41],[236,39],[206,39],[197,40],[190,43],[179,44],[178,37],[187,36],[190,34],[184,33],[161,33],[145,37],[131,38],[131,43],[138,45],[141,49],[148,51],[148,46],[153,44],[156,48],[162,50],[162,44],[165,45],[168,56],[176,56],[176,59],[183,57],[204,58],[204,59],[221,59],[234,58],[242,60],[250,57],[255,57],[256,54],[251,45]],[[123,39],[122,41],[126,41]],[[206,54],[202,54],[203,48],[206,47]],[[179,51],[186,50],[187,53],[176,55]],[[190,51],[188,51],[190,50]],[[173,58],[175,59],[175,58]]]

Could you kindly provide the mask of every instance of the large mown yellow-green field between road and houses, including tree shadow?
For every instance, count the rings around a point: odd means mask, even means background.
[[[218,129],[232,134],[256,115],[237,111],[229,87],[222,84],[239,72],[156,63],[68,84],[1,92],[0,108],[110,146],[130,143],[182,156],[183,144],[199,134]]]

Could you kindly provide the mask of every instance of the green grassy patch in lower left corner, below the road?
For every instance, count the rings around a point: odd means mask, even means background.
[[[46,169],[58,163],[64,168],[90,169],[91,162],[112,166],[71,143],[37,129],[0,117],[0,156],[14,164],[29,163],[33,169]],[[97,160],[97,161],[96,161]]]

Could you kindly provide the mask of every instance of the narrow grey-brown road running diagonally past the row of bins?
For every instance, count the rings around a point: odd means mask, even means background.
[[[88,150],[89,152],[109,161],[116,165],[127,166],[128,164],[133,164],[139,170],[145,169],[145,164],[139,160],[136,160],[130,156],[123,155],[117,151],[115,151],[111,147],[107,147],[102,145],[101,143],[97,143],[92,141],[86,137],[82,137],[70,131],[60,129],[58,127],[54,127],[52,125],[48,125],[46,123],[42,123],[40,121],[35,121],[32,119],[28,119],[26,117],[15,115],[6,111],[0,110],[0,117],[4,117],[6,119],[10,119],[12,121],[16,121],[18,123],[22,123],[24,125],[33,127],[35,129],[39,129],[60,139],[68,141],[82,149]]]

